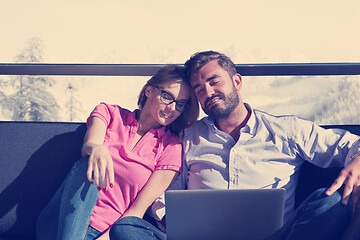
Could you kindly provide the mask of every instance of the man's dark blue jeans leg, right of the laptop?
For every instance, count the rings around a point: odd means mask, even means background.
[[[325,194],[326,189],[312,193],[296,210],[286,240],[341,239],[351,219],[350,206],[341,204],[341,194]]]

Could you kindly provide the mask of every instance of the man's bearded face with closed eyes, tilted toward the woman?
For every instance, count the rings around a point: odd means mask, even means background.
[[[241,76],[230,77],[217,60],[192,74],[190,83],[204,112],[216,120],[228,117],[239,105]]]

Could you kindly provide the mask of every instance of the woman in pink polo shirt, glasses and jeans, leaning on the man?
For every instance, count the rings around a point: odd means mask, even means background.
[[[114,223],[142,218],[175,179],[182,154],[178,135],[199,113],[183,68],[160,69],[141,90],[138,106],[130,112],[101,103],[90,114],[85,158],[39,216],[38,239],[109,239]]]

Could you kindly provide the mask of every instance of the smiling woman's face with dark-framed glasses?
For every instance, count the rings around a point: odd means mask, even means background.
[[[147,93],[148,98],[144,108],[147,105],[153,120],[163,126],[175,121],[181,114],[179,110],[181,110],[190,99],[189,87],[184,83],[173,81],[157,86],[150,86],[146,89],[145,93]]]

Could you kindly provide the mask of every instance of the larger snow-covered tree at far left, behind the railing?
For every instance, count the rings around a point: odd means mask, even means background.
[[[32,38],[15,57],[16,63],[38,63],[42,61],[42,42]],[[60,107],[48,88],[54,80],[46,76],[11,77],[8,86],[12,94],[2,95],[4,108],[10,110],[14,121],[54,121],[59,119]]]

